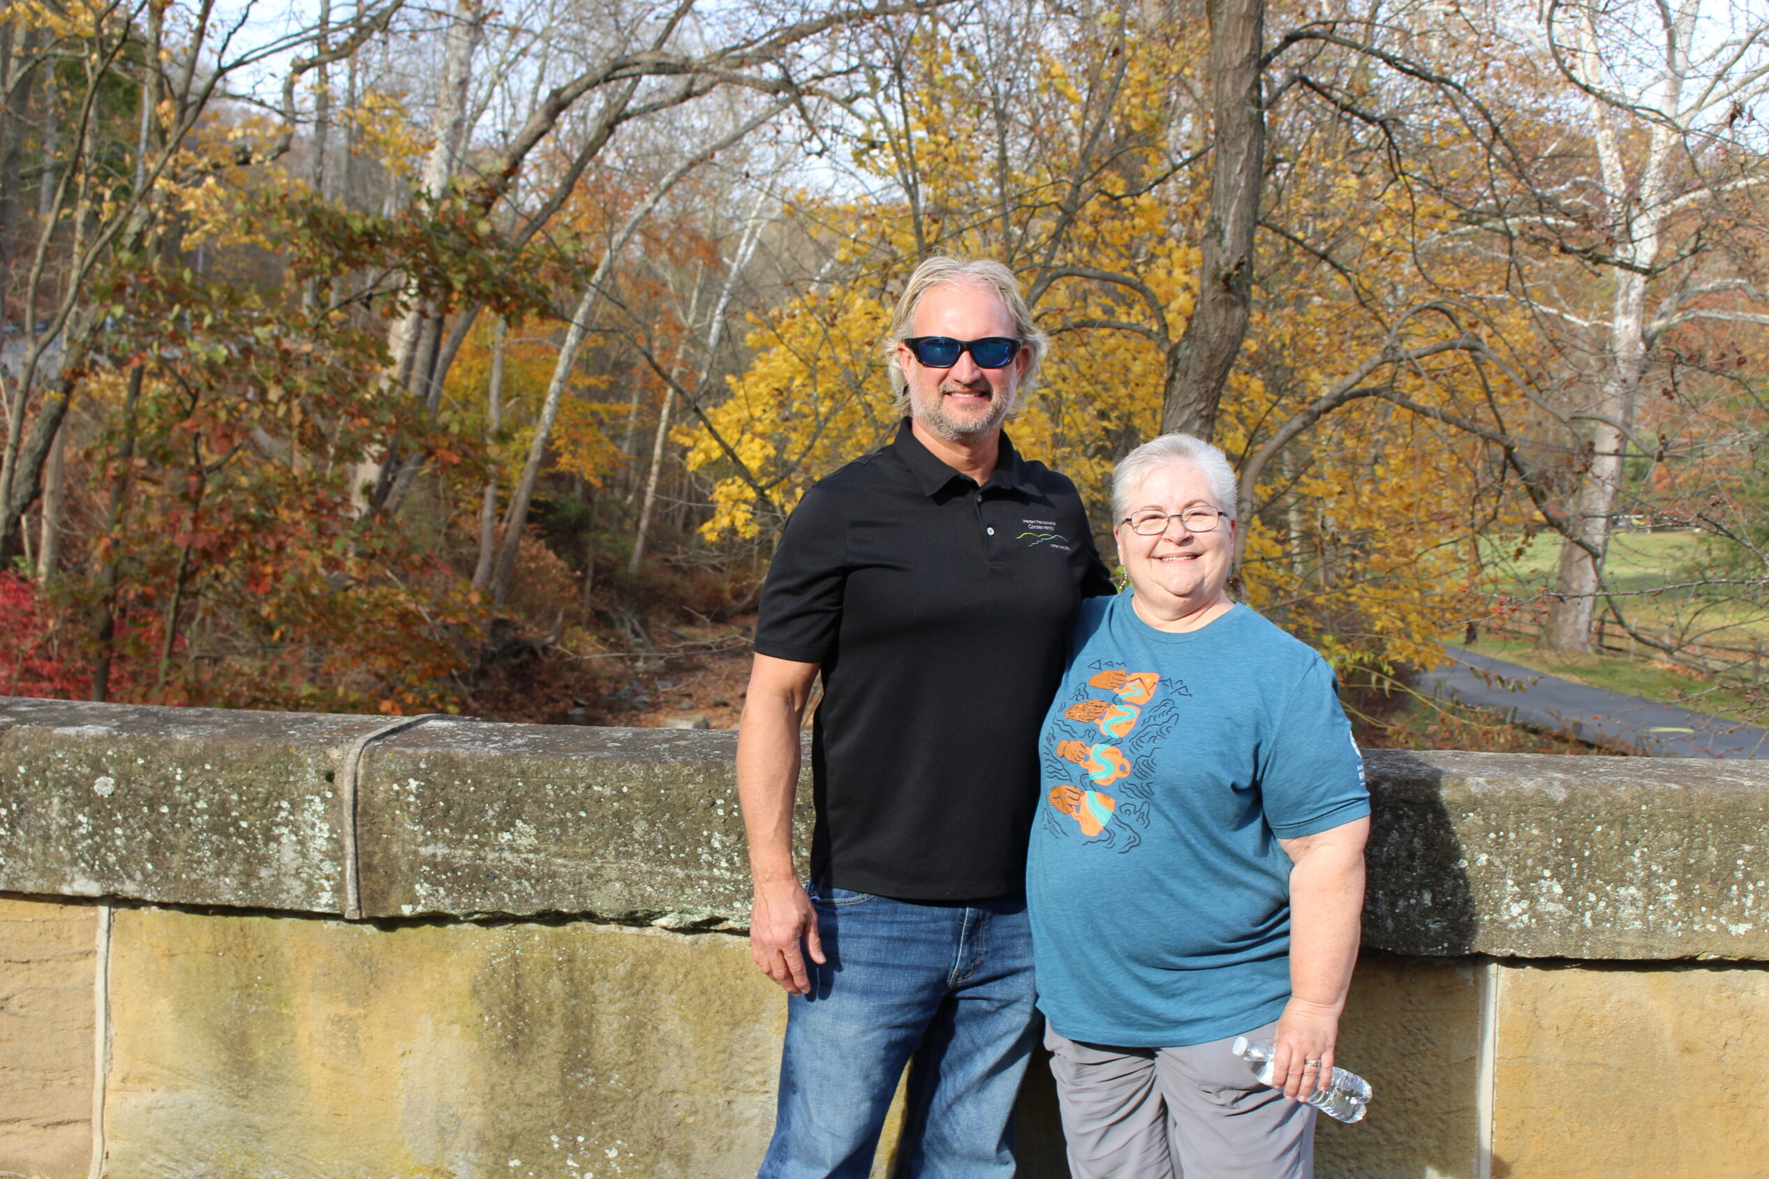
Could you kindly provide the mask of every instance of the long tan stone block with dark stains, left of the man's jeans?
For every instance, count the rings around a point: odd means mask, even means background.
[[[120,910],[110,1179],[720,1179],[785,1004],[743,939]]]

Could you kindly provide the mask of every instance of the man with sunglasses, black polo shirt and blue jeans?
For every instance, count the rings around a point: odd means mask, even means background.
[[[768,571],[738,742],[750,951],[789,993],[762,1179],[863,1179],[911,1053],[899,1174],[1014,1172],[1038,725],[1079,601],[1113,592],[1074,484],[1001,433],[1044,346],[1007,267],[918,267],[888,343],[909,417],[805,493]]]

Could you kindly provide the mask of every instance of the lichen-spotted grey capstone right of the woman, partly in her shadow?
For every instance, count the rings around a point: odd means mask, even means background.
[[[1769,960],[1769,762],[1367,755],[1364,944]]]

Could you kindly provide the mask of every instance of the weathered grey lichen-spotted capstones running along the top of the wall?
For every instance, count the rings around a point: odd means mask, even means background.
[[[334,776],[382,723],[0,702],[0,889],[341,912]],[[361,767],[364,914],[743,928],[734,753],[731,732],[391,735]],[[1769,960],[1765,762],[1373,751],[1369,783],[1371,947]]]

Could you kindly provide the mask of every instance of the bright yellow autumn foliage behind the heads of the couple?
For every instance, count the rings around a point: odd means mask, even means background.
[[[778,527],[810,483],[890,438],[897,414],[879,348],[890,306],[922,256],[946,251],[1008,256],[1035,292],[1053,348],[1010,435],[1076,481],[1109,546],[1111,468],[1159,430],[1168,346],[1196,299],[1208,180],[1159,175],[1175,134],[1176,74],[1201,58],[1183,48],[1120,41],[1109,28],[1047,48],[1028,110],[1017,111],[1047,147],[999,159],[975,72],[950,69],[945,46],[918,46],[907,111],[899,124],[881,117],[856,147],[879,187],[913,200],[793,202],[842,262],[840,278],[757,316],[752,361],[709,412],[711,428],[685,431],[690,468],[716,481],[709,539]],[[1111,141],[1102,148],[1097,136],[1083,159],[1095,126],[1109,127]],[[1421,240],[1454,240],[1442,233],[1454,228],[1449,212],[1350,171],[1330,147],[1307,143],[1298,156],[1290,214],[1350,251],[1364,290],[1352,292],[1313,255],[1265,240],[1256,316],[1215,431],[1235,461],[1390,339],[1413,346],[1465,331],[1444,316],[1396,325],[1369,311],[1431,297]],[[1088,179],[1081,189],[1077,175]],[[1475,320],[1505,315],[1497,267],[1484,274],[1479,256],[1433,249],[1431,265],[1456,267],[1459,290],[1493,293],[1495,306]],[[1100,272],[1134,281],[1100,281]],[[1424,299],[1408,293],[1421,286]],[[1491,385],[1479,384],[1465,359],[1449,355],[1396,384],[1424,405],[1488,389],[1502,405],[1521,401],[1488,377]],[[1429,663],[1438,636],[1470,612],[1475,550],[1461,537],[1484,495],[1481,472],[1477,440],[1392,403],[1366,399],[1327,415],[1260,481],[1256,506],[1267,511],[1245,521],[1244,597],[1339,666]]]

